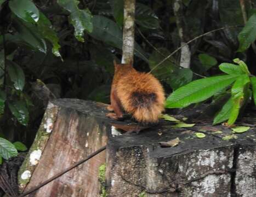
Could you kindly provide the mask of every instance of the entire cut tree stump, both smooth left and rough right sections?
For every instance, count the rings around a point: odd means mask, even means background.
[[[121,135],[117,126],[136,124],[106,118],[105,107],[92,101],[51,101],[20,169],[20,189],[37,186],[108,139],[106,158],[100,153],[31,196],[100,196],[98,170],[105,159],[107,196],[111,197],[256,196],[253,115],[249,116],[251,129],[242,134],[207,123],[175,128],[174,123],[161,120],[138,134]],[[206,137],[198,138],[196,132]],[[177,137],[181,142],[175,147],[159,144]]]

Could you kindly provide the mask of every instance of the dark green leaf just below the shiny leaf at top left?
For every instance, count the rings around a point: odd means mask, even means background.
[[[46,53],[46,44],[35,25],[15,18],[14,27],[16,31],[18,31],[16,37],[26,42],[26,44],[29,45],[31,49]]]

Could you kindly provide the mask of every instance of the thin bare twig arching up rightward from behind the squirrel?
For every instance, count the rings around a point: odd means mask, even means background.
[[[191,42],[193,42],[194,40],[198,39],[198,38],[201,38],[203,36],[206,36],[210,33],[213,33],[213,32],[216,32],[216,31],[220,31],[220,30],[224,30],[225,28],[234,28],[234,27],[238,27],[237,25],[234,25],[234,26],[227,26],[227,27],[221,27],[221,28],[218,28],[216,30],[212,30],[212,31],[209,31],[209,32],[206,32],[206,33],[203,33],[201,34],[200,36],[197,36],[191,40],[189,40],[189,42],[181,45],[178,49],[174,50],[173,53],[171,53],[170,55],[168,55],[166,58],[164,58],[161,62],[157,63],[157,65],[155,67],[153,67],[151,69],[151,71],[149,73],[151,73],[154,69],[156,69],[158,66],[160,66],[164,61],[166,61],[167,59],[169,59],[171,56],[173,56],[175,53],[177,53],[177,51],[179,51],[180,49],[182,49],[185,45],[187,44],[190,44]],[[202,78],[205,78],[204,76],[201,76],[201,74],[197,74],[198,76],[202,77]]]

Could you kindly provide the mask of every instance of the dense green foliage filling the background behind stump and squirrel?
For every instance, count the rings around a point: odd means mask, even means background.
[[[215,31],[190,43],[190,68],[180,68],[181,54],[175,53],[152,73],[161,80],[168,94],[177,90],[175,94],[183,99],[183,92],[179,94],[181,86],[193,79],[220,74],[221,62],[232,63],[238,57],[247,62],[251,74],[255,73],[256,50],[254,45],[250,47],[256,38],[254,1],[248,1],[245,6],[249,20],[244,28],[244,13],[237,0],[180,2],[182,9],[178,17],[173,10],[174,1],[137,1],[136,69],[148,72],[177,49],[181,28],[182,41],[188,42],[207,31],[236,25],[238,27]],[[16,155],[17,149],[25,150],[20,142],[9,141],[22,141],[28,146],[32,143],[50,97],[46,90],[54,97],[109,102],[112,61],[122,55],[123,1],[0,0],[0,19],[0,134],[3,137],[0,155],[7,159]],[[194,100],[191,97],[183,105],[176,103],[174,107],[185,107],[211,96],[213,101],[225,97],[214,124],[230,119],[221,115],[227,109],[235,114],[232,117],[237,117],[233,107],[241,103],[242,97],[248,98],[243,99],[243,106],[249,102],[248,92],[255,90],[255,78],[246,71],[235,77],[235,71],[227,71],[234,65],[219,67],[226,76],[199,79],[208,83],[204,97]],[[234,69],[240,67],[236,65]],[[190,85],[200,88],[199,82]],[[218,89],[214,83],[218,83]],[[236,100],[234,103],[230,95]]]

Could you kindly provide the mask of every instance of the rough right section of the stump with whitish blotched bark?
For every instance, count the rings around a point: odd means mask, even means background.
[[[256,196],[254,128],[232,134],[224,126],[173,128],[170,124],[109,138],[109,196]],[[198,138],[196,132],[206,137]],[[178,146],[159,144],[177,137]]]

